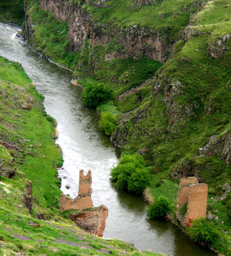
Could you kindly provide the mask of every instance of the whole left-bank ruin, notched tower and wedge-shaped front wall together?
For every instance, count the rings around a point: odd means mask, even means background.
[[[108,217],[108,208],[104,205],[99,207],[93,206],[91,183],[91,170],[88,171],[86,176],[84,171],[80,170],[78,196],[72,199],[65,194],[61,194],[60,211],[79,210],[76,213],[70,214],[69,218],[84,231],[102,237],[106,225],[105,220]]]

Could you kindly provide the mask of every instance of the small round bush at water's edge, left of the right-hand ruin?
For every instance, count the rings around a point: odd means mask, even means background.
[[[146,212],[149,219],[164,217],[170,212],[170,202],[166,197],[160,196],[158,200],[148,205]]]

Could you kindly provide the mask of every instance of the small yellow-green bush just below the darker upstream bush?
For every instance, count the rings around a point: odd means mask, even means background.
[[[116,131],[117,125],[116,116],[111,112],[102,112],[99,120],[99,129],[105,132],[106,135],[111,135]]]

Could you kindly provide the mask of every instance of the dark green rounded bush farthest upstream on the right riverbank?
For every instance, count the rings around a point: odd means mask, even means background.
[[[107,101],[112,96],[112,89],[105,83],[92,83],[82,93],[86,106],[96,107],[100,102]]]

